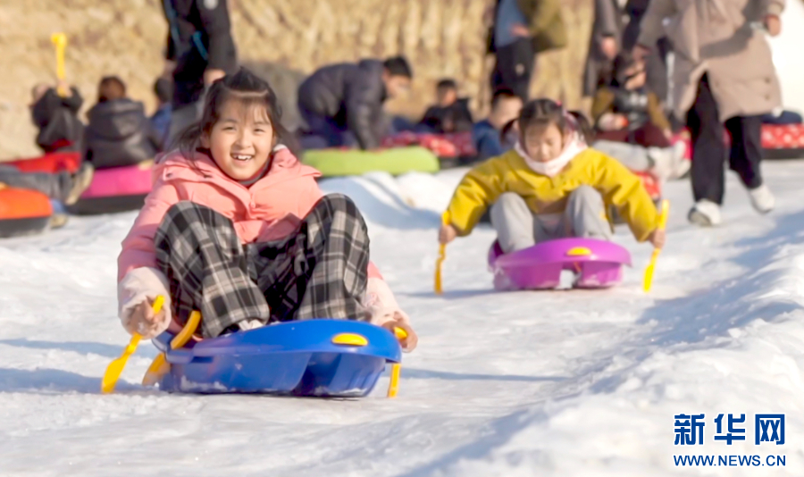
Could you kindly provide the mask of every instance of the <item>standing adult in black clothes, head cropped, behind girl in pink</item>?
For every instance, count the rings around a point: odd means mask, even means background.
[[[200,118],[205,88],[235,71],[237,51],[227,0],[163,0],[163,10],[168,21],[165,74],[172,72],[174,83],[170,144]]]

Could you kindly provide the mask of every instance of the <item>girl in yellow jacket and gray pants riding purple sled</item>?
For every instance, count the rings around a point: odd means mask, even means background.
[[[468,172],[449,203],[439,241],[468,235],[491,205],[491,224],[505,253],[553,238],[610,239],[614,206],[639,241],[665,243],[656,206],[641,180],[615,159],[586,146],[588,121],[549,99],[523,107],[519,142]]]

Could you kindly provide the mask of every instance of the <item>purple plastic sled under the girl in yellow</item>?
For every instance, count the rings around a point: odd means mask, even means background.
[[[495,241],[489,250],[495,289],[554,289],[562,270],[577,273],[575,288],[605,289],[623,280],[623,265],[631,266],[628,250],[595,238],[558,238],[511,254]]]

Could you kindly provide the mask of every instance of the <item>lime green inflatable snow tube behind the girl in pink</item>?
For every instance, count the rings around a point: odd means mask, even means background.
[[[439,159],[423,147],[399,147],[383,151],[314,149],[302,162],[321,171],[324,177],[355,176],[365,172],[439,172]]]

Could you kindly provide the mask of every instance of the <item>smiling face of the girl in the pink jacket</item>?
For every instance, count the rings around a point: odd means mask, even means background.
[[[230,100],[212,130],[202,136],[201,145],[230,178],[249,180],[263,171],[276,144],[264,107]]]

